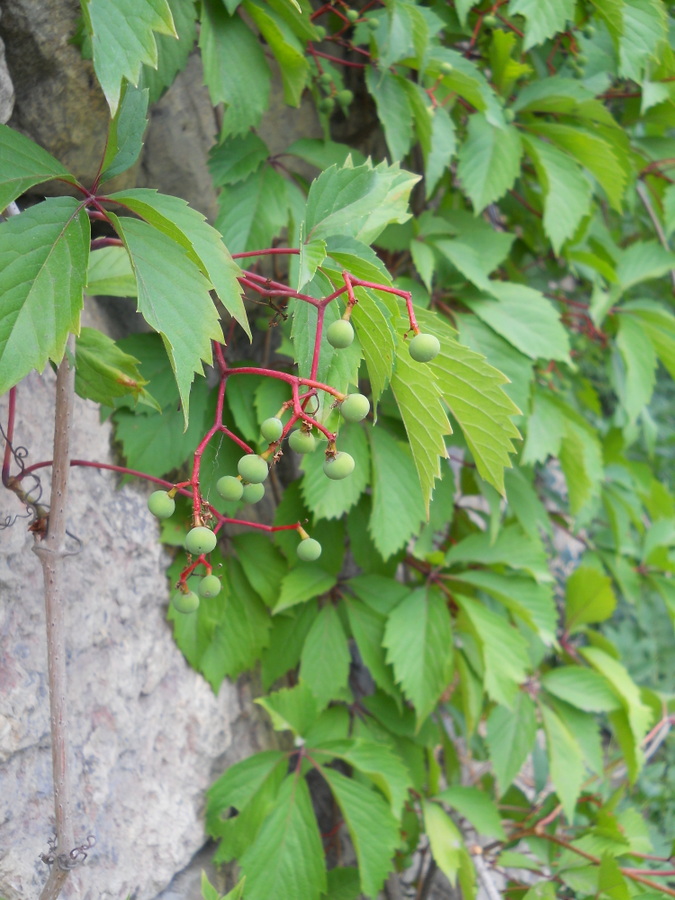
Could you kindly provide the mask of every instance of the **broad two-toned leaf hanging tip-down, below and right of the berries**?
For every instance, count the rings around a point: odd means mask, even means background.
[[[419,728],[452,677],[452,624],[443,596],[425,588],[409,594],[389,616],[384,646]]]

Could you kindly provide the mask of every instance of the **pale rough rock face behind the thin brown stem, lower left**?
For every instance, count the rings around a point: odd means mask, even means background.
[[[16,441],[50,457],[53,375],[18,397]],[[6,398],[5,398],[6,400]],[[6,402],[0,404],[6,421]],[[110,430],[77,402],[75,454],[112,461]],[[48,469],[41,478],[48,495]],[[185,663],[165,621],[167,559],[145,488],[74,468],[66,561],[76,838],[96,836],[64,897],[156,896],[203,845],[204,790],[226,763],[268,745],[248,687],[214,696]],[[22,512],[0,492],[0,521]],[[0,531],[0,896],[36,897],[52,833],[53,797],[42,574],[26,520]],[[187,896],[187,895],[186,895]],[[198,894],[195,896],[199,896]]]

